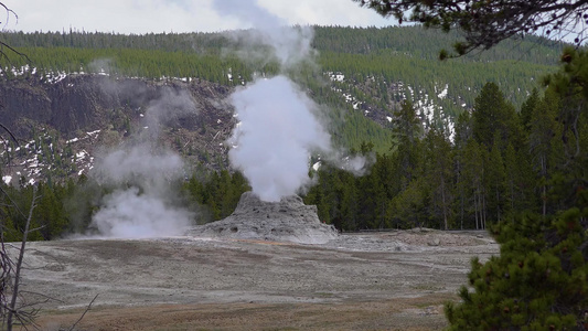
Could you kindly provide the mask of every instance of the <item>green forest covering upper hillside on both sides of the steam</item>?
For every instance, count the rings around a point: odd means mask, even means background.
[[[512,92],[509,99],[520,105],[532,89],[531,79],[537,79],[554,66],[563,47],[560,43],[530,36],[520,42],[506,41],[489,52],[438,63],[436,51],[450,44],[456,35],[420,26],[314,26],[314,32],[313,46],[319,51],[323,71],[342,72],[357,82],[367,76],[388,83],[402,81],[431,96],[435,94],[432,84],[449,84],[451,94],[466,97],[469,105],[488,81]],[[228,85],[250,81],[254,72],[275,73],[271,64],[269,67],[267,63],[250,61],[244,64],[234,56],[226,56],[232,54],[231,50],[238,50],[239,39],[231,36],[238,33],[246,31],[143,35],[4,32],[0,38],[26,54],[30,65],[43,72],[96,72],[100,70],[96,61],[101,60],[101,66],[113,74],[200,77]],[[104,60],[108,61],[108,67]],[[7,67],[26,63],[28,58],[12,54],[0,64]],[[470,74],[473,72],[477,75]],[[235,79],[229,79],[228,74]],[[512,88],[514,86],[521,90]]]

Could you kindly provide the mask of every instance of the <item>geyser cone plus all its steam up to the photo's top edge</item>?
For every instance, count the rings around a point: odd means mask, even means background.
[[[295,72],[304,61],[312,62],[311,28],[287,28],[254,0],[231,0],[229,6],[226,2],[223,1],[222,12],[255,28],[235,35],[242,45],[252,42],[253,46],[243,50],[248,58],[277,61],[282,73]],[[220,1],[215,3],[220,6]],[[260,44],[269,46],[271,54]],[[228,141],[228,157],[231,166],[248,179],[253,192],[242,195],[231,216],[193,228],[189,235],[304,244],[324,244],[335,238],[336,229],[320,222],[317,206],[304,205],[296,195],[311,184],[312,153],[336,161],[340,153],[333,150],[331,137],[320,121],[319,107],[285,74],[258,77],[237,88],[231,102],[239,122]],[[360,173],[364,166],[364,159],[352,159],[341,167]]]

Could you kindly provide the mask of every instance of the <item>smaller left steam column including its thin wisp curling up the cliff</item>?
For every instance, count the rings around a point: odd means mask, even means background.
[[[183,177],[180,156],[157,145],[164,121],[195,113],[188,93],[171,88],[149,104],[142,134],[98,160],[90,172],[99,184],[115,188],[103,197],[92,227],[101,236],[146,238],[182,234],[193,214],[180,207],[171,183]]]

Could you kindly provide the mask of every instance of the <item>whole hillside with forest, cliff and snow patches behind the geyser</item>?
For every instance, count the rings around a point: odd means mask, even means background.
[[[426,125],[450,134],[455,116],[472,107],[489,81],[521,105],[554,71],[562,47],[537,39],[507,41],[491,52],[439,62],[437,52],[456,35],[419,26],[316,26],[314,34],[319,66],[301,67],[292,78],[327,109],[335,143],[359,149],[371,141],[381,152],[393,145],[389,128],[403,99],[414,102]],[[222,143],[234,122],[222,100],[255,73],[278,71],[271,62],[226,55],[239,46],[226,34],[9,32],[0,39],[29,58],[9,54],[2,60],[0,85],[2,119],[23,141],[17,153],[2,153],[19,164],[4,173],[26,181],[83,173],[97,146],[119,143],[142,130],[140,109],[168,89],[188,92],[202,111],[165,124],[161,140],[193,162],[224,168]],[[129,94],[135,87],[122,87],[129,84],[140,86],[140,93]],[[88,132],[96,137],[84,145]]]

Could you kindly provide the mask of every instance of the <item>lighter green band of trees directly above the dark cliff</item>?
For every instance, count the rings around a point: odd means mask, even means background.
[[[29,66],[18,72],[29,63],[24,57],[12,55],[14,57],[8,61],[17,66],[17,73],[6,71],[9,78],[26,78],[36,73],[41,79],[51,81],[61,73],[99,73],[157,79],[197,77],[234,86],[253,76],[253,71],[234,56],[131,49],[21,47],[20,51],[32,60],[30,65],[34,70]],[[260,70],[267,74],[276,72],[271,66]]]

